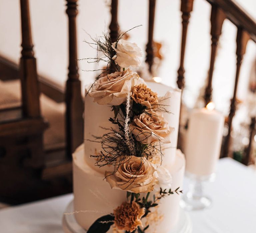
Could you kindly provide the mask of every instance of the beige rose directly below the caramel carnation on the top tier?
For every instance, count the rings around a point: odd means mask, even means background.
[[[174,130],[162,116],[153,111],[134,116],[129,127],[136,140],[145,144],[170,143],[170,134]]]

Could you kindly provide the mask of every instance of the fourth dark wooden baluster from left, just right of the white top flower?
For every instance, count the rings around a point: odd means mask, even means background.
[[[146,47],[146,63],[148,63],[149,72],[152,73],[152,65],[154,62],[154,21],[155,21],[156,0],[149,0],[149,17],[148,17],[148,44]]]

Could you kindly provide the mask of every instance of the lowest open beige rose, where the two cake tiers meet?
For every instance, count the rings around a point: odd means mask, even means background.
[[[106,171],[105,177],[111,188],[134,193],[151,192],[158,183],[156,168],[145,157],[129,156],[114,174]]]

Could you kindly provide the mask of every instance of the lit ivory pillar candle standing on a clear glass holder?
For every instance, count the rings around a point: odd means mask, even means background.
[[[220,155],[224,116],[210,102],[206,108],[193,110],[189,119],[185,148],[186,171],[203,176],[215,171]]]

